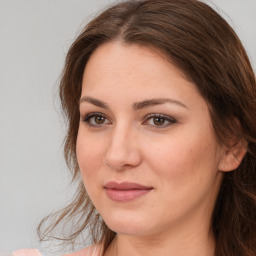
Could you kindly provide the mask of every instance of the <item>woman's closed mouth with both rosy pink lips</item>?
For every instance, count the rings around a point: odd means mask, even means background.
[[[128,202],[147,194],[153,187],[130,182],[109,182],[104,186],[104,189],[112,201]]]

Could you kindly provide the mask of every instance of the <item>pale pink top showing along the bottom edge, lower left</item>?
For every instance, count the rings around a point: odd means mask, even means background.
[[[12,256],[43,256],[37,249],[23,249],[13,252]],[[65,254],[63,256],[101,256],[101,246],[92,245],[78,252]]]

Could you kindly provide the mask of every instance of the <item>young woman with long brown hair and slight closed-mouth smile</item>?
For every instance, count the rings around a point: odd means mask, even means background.
[[[65,241],[89,228],[94,245],[73,256],[256,255],[255,75],[214,10],[110,7],[71,46],[60,97],[82,182],[42,240],[74,218]]]

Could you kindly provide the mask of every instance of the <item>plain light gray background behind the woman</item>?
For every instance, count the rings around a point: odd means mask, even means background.
[[[36,225],[71,198],[58,78],[83,24],[110,2],[0,0],[0,253],[39,247]],[[255,69],[256,1],[211,2],[237,31]]]

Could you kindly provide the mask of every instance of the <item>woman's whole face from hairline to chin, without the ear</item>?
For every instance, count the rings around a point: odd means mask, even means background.
[[[210,226],[223,148],[196,86],[148,47],[100,46],[86,65],[77,159],[110,229]]]

